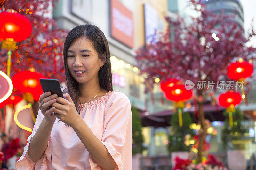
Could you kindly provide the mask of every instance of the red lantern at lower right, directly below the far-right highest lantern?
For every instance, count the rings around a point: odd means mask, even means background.
[[[219,104],[222,107],[236,107],[236,105],[241,103],[241,95],[239,92],[225,92],[219,96]]]

